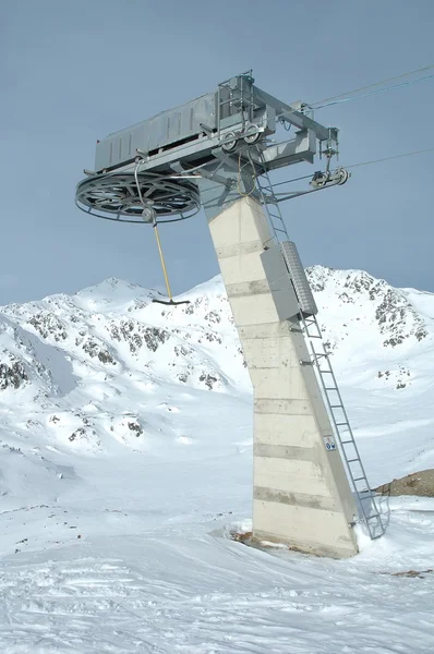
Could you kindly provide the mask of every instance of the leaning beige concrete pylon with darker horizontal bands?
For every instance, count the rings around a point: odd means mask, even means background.
[[[254,389],[253,537],[334,558],[358,552],[355,504],[298,322],[279,318],[261,254],[272,242],[253,197],[209,229]]]

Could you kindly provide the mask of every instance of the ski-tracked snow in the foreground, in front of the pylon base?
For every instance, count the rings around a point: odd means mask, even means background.
[[[46,562],[9,559],[0,576],[0,651],[433,651],[430,576],[381,576],[357,570],[352,562],[312,561],[299,555],[282,560],[210,536],[186,546],[152,536],[125,545],[120,552],[118,542],[111,557],[101,556],[98,544],[98,556],[92,556],[91,548],[89,556],[74,558],[77,549],[67,548]]]

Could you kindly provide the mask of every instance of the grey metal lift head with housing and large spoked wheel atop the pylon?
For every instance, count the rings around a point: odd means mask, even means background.
[[[252,71],[242,73],[213,93],[98,141],[95,170],[85,171],[76,204],[122,222],[150,221],[150,213],[143,214],[150,207],[159,221],[189,218],[201,204],[201,180],[220,184],[220,194],[236,186],[249,190],[252,177],[265,171],[312,164],[316,153],[336,154],[338,130],[312,116],[305,104],[288,105],[255,86]],[[279,131],[285,133],[280,143]],[[242,174],[245,165],[249,175]]]

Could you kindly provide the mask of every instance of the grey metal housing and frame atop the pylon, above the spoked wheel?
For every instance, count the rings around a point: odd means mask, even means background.
[[[184,168],[220,161],[221,149],[231,141],[252,143],[274,134],[282,122],[296,128],[293,138],[277,145],[261,143],[262,157],[252,148],[256,164],[273,169],[313,162],[317,142],[337,149],[336,129],[312,120],[302,102],[287,105],[253,82],[249,74],[238,75],[219,84],[214,93],[110,134],[97,143],[95,171],[122,170],[137,157],[141,172],[161,174],[173,171],[180,161]]]

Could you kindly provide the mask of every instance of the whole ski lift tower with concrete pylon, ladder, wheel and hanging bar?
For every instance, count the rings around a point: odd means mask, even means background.
[[[157,228],[204,207],[254,389],[253,537],[340,558],[358,550],[357,522],[372,538],[384,525],[279,208],[347,182],[331,168],[337,154],[337,129],[265,93],[249,71],[97,142],[76,205],[154,227],[170,304]],[[276,194],[275,170],[316,155],[324,171]]]

